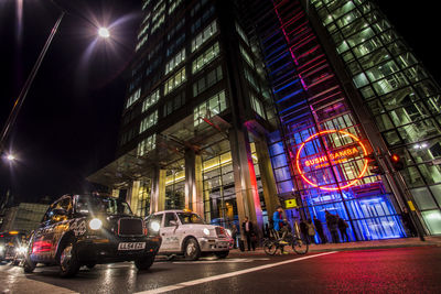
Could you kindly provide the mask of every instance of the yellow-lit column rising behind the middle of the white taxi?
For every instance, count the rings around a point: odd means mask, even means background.
[[[204,217],[202,156],[194,150],[185,151],[185,208]]]

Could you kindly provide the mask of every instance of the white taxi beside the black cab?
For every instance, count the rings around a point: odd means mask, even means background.
[[[190,210],[165,210],[146,219],[148,229],[157,230],[162,238],[158,254],[184,255],[197,260],[203,254],[225,259],[233,248],[233,238],[226,229],[212,226]]]

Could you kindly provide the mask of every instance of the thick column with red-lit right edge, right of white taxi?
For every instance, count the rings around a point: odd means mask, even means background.
[[[261,237],[263,224],[260,207],[259,192],[257,188],[256,173],[252,164],[251,150],[249,146],[248,131],[245,127],[240,130],[229,131],[229,141],[233,157],[235,177],[235,192],[239,222],[245,216],[255,224],[256,232]],[[244,238],[244,235],[241,236]]]

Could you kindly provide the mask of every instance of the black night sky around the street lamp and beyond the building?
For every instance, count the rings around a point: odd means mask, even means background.
[[[0,123],[3,126],[60,12],[49,0],[0,0]],[[416,1],[378,1],[440,80],[439,13]],[[36,202],[87,188],[85,177],[114,160],[141,0],[62,0],[72,11],[60,26],[13,128],[18,161],[0,163],[0,197]],[[423,3],[423,2],[421,2]],[[96,42],[92,23],[115,23],[114,40]],[[428,37],[431,34],[431,37]],[[89,47],[89,48],[88,48]]]

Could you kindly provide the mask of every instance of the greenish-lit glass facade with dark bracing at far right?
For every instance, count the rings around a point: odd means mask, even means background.
[[[441,89],[372,1],[311,0],[431,233],[441,233]]]

